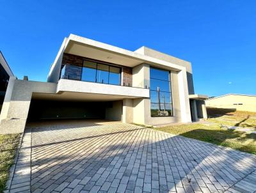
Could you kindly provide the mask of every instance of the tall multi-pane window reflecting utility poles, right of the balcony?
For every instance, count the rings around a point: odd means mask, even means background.
[[[170,72],[150,67],[151,116],[173,116]]]

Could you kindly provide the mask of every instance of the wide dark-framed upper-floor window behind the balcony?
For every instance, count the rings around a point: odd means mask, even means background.
[[[120,68],[83,61],[82,81],[120,85]]]

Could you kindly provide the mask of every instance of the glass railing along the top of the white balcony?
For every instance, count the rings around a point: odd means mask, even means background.
[[[121,81],[121,72],[121,68],[116,66],[97,65],[95,67],[93,62],[90,62],[84,64],[83,67],[64,65],[61,69],[60,79],[149,89],[149,80],[146,79],[141,82],[136,82],[136,85],[132,85],[132,82],[129,81]]]

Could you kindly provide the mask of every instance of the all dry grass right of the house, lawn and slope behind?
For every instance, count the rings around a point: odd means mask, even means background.
[[[231,111],[230,109],[207,109],[207,112],[209,114],[207,122],[210,124],[194,123],[154,129],[256,154],[256,134],[222,127],[227,125],[256,130],[256,112]]]

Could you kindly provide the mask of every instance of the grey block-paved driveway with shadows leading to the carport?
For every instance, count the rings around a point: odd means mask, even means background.
[[[255,169],[248,153],[136,125],[41,124],[25,132],[10,192],[253,192]]]

